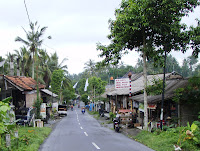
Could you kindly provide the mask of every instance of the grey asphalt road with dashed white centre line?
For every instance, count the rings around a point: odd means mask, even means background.
[[[87,112],[68,110],[39,151],[152,151],[123,134],[102,127]]]

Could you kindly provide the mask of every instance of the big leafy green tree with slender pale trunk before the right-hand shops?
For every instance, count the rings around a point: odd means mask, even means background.
[[[184,48],[183,51],[186,51],[188,37],[183,36],[182,30],[185,26],[180,24],[180,20],[196,5],[197,1],[186,0],[124,0],[120,8],[115,11],[116,20],[110,21],[111,34],[108,38],[111,44],[97,45],[97,49],[102,51],[100,56],[106,57],[102,61],[103,64],[118,63],[128,50],[141,52],[144,73],[145,129],[148,123],[146,61],[148,58],[160,61],[163,52],[166,54],[172,49]]]

